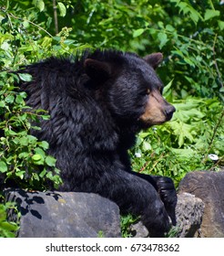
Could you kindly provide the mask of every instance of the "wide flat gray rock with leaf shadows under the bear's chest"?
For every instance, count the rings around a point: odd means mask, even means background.
[[[119,208],[96,194],[6,190],[21,212],[20,238],[120,237]],[[8,214],[15,220],[14,212]]]

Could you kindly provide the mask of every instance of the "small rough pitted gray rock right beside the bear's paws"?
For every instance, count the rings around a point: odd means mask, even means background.
[[[204,212],[203,201],[188,193],[178,195],[176,207],[177,237],[193,238],[199,233]]]

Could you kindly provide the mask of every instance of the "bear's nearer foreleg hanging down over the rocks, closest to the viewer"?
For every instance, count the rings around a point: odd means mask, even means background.
[[[118,170],[101,178],[97,193],[117,203],[121,212],[141,215],[150,237],[164,237],[170,229],[168,213],[157,190],[146,180]]]

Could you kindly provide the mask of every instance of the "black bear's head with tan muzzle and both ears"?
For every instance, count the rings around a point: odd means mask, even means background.
[[[138,123],[141,128],[169,121],[174,106],[162,96],[163,83],[155,69],[161,53],[144,59],[132,53],[104,52],[87,58],[88,77],[97,84],[97,97],[120,123]]]

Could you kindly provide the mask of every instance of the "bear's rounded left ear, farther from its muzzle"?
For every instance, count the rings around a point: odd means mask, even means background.
[[[107,80],[111,75],[111,66],[97,59],[85,59],[84,68],[88,77],[94,80]]]

